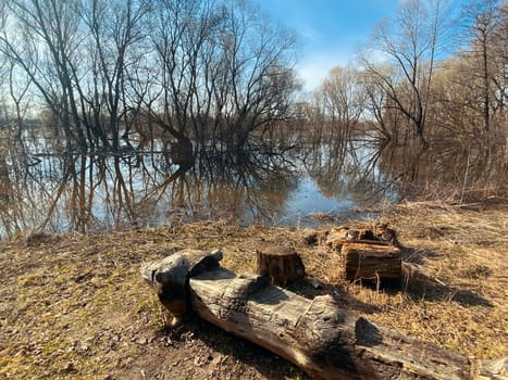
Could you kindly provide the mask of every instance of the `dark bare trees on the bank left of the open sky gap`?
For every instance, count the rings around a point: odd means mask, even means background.
[[[134,129],[245,148],[290,116],[296,38],[243,0],[0,0],[1,118],[44,116],[69,148]]]

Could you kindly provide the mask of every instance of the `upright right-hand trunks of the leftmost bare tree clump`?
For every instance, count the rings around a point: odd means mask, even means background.
[[[132,65],[137,65],[135,47],[145,39],[146,29],[141,27],[149,11],[146,1],[104,1],[90,0],[82,3],[83,20],[90,33],[89,52],[92,58],[91,88],[88,94],[80,93],[85,100],[84,109],[90,109],[89,117],[84,113],[88,125],[103,140],[106,134],[112,138],[112,149],[120,148],[122,122],[126,124],[129,109],[126,100],[126,75]],[[131,59],[131,60],[129,60]],[[77,78],[76,78],[77,79]],[[108,115],[107,125],[102,125],[101,114]]]

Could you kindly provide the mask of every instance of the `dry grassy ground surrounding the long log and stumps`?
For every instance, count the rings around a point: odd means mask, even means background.
[[[183,248],[222,248],[223,266],[251,271],[260,240],[294,246],[321,292],[335,292],[373,322],[471,358],[508,356],[506,200],[406,203],[382,220],[397,230],[405,261],[419,265],[428,281],[401,290],[347,283],[338,253],[307,244],[309,231],[297,227],[215,221],[1,241],[0,377],[307,379],[286,360],[198,318],[166,328],[165,312],[139,276],[141,263]],[[303,281],[295,290],[311,296],[312,289]]]

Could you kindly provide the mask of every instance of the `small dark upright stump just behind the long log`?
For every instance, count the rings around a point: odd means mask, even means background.
[[[285,286],[306,276],[303,263],[294,249],[263,243],[256,255],[257,274],[268,276],[273,284]]]

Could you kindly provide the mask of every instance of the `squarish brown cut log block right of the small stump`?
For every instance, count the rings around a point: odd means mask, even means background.
[[[342,248],[343,274],[357,279],[400,281],[400,250],[394,245],[346,243]]]

